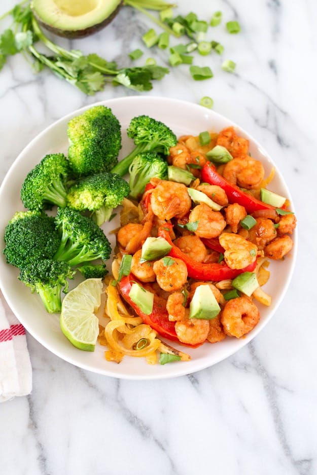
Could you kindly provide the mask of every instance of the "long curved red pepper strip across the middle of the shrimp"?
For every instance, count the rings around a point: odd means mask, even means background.
[[[172,226],[169,223],[166,223],[166,225],[159,228],[158,235],[166,239],[166,241],[172,246],[168,255],[173,258],[181,259],[186,264],[188,276],[193,279],[219,282],[220,280],[234,279],[237,275],[242,274],[242,272],[252,272],[256,268],[256,261],[249,266],[244,267],[244,269],[231,269],[224,261],[220,264],[203,264],[196,262],[181,251],[179,247],[173,244],[169,234],[171,230]]]

